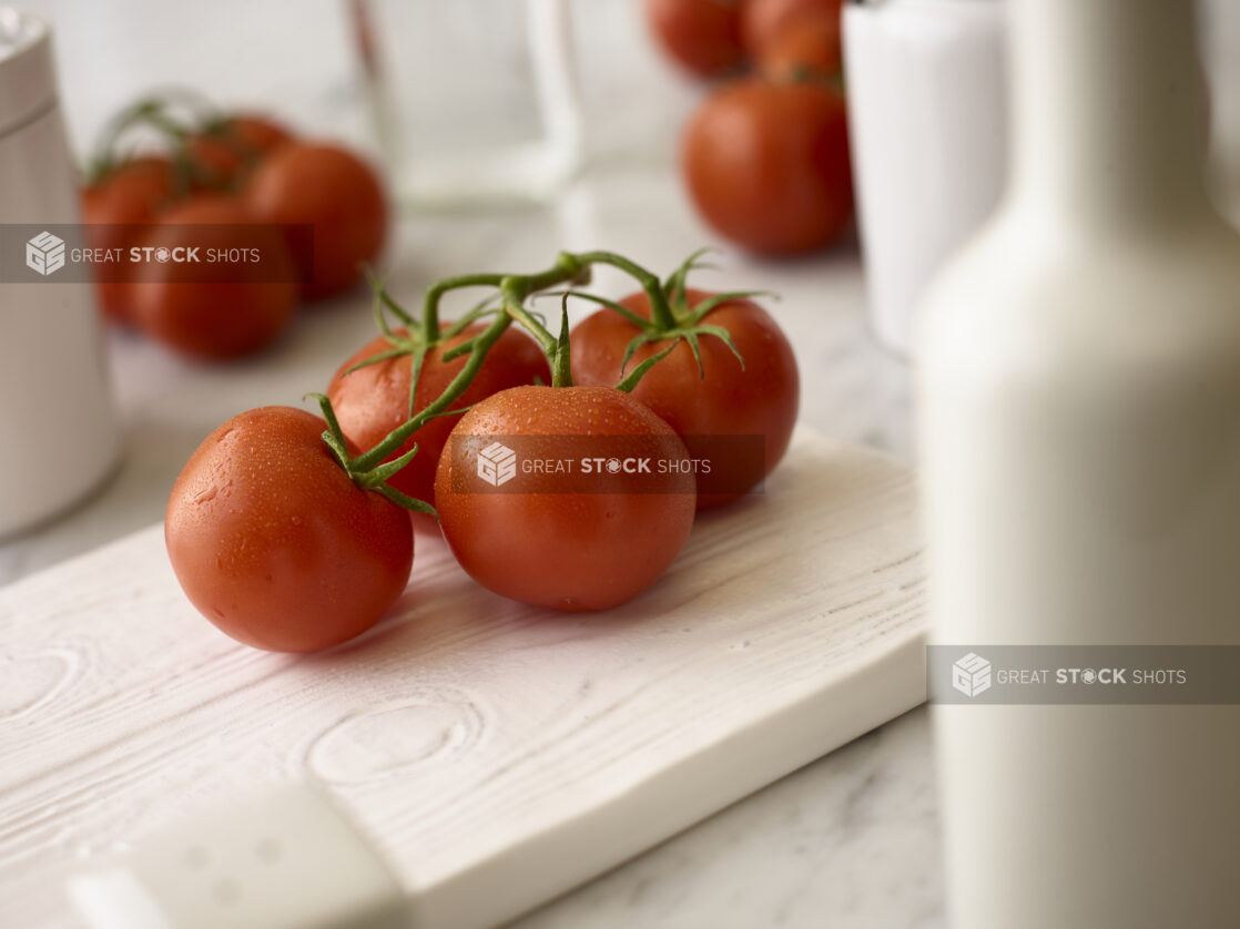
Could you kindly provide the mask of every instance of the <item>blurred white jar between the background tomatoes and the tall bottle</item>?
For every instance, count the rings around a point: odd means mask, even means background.
[[[1003,0],[870,0],[843,11],[870,326],[911,352],[930,275],[993,209],[1007,162]]]

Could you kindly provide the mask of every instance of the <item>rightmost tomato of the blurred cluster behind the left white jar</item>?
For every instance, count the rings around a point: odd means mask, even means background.
[[[259,222],[286,228],[303,294],[325,297],[361,277],[387,237],[387,201],[374,171],[335,145],[290,142],[254,170],[246,201]],[[309,227],[310,235],[305,229]]]

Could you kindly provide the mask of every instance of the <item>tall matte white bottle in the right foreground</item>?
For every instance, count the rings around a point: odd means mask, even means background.
[[[1011,183],[920,333],[934,640],[1240,644],[1240,240],[1194,5],[1011,12]],[[935,727],[956,929],[1240,925],[1240,707]]]

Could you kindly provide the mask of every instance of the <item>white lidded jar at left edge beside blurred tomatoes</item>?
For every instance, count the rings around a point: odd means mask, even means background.
[[[77,222],[51,30],[0,6],[0,224]],[[89,284],[0,281],[0,536],[82,499],[114,467],[120,431]]]

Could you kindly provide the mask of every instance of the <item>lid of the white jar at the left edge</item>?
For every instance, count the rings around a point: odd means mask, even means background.
[[[56,103],[51,33],[37,16],[0,5],[0,136]]]

